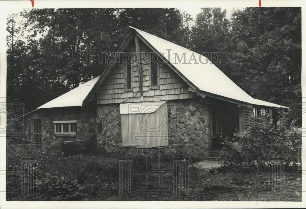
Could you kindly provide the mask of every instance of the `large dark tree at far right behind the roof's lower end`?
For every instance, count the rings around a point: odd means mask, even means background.
[[[230,77],[257,99],[301,95],[301,9],[246,8],[231,18]]]

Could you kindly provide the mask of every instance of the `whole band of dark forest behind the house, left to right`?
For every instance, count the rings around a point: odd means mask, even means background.
[[[100,75],[106,65],[86,64],[86,49],[116,51],[128,25],[197,53],[227,52],[218,68],[256,99],[301,96],[300,7],[234,9],[230,19],[202,8],[195,20],[175,8],[32,9],[7,17],[10,101],[29,112]]]

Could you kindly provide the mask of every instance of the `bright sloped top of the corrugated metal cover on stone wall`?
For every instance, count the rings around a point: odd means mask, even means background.
[[[153,113],[165,102],[122,103],[119,106],[120,114]]]

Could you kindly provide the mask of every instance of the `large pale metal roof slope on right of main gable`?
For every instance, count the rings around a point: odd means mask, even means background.
[[[129,28],[136,30],[201,91],[210,92],[212,94],[254,105],[287,108],[285,106],[252,98],[203,55],[137,28],[131,26],[129,26]],[[182,56],[185,56],[186,62],[179,62],[179,59],[181,59]]]

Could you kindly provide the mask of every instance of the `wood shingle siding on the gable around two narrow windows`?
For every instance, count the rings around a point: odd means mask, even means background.
[[[195,98],[195,93],[188,91],[186,84],[170,67],[166,64],[159,65],[159,87],[150,86],[150,56],[149,48],[143,42],[140,42],[141,52],[147,53],[146,59],[142,59],[142,75],[143,75],[143,94],[144,101],[153,102],[161,100],[173,99],[189,99]],[[127,53],[136,53],[135,43],[132,42],[127,48]],[[131,55],[132,56],[132,55]],[[131,57],[131,61],[135,61],[136,56]],[[110,72],[107,79],[97,92],[98,104],[110,104],[133,102],[140,100],[139,91],[139,72],[137,71],[137,62],[132,66],[132,91],[125,90],[125,65],[117,64]],[[138,93],[137,93],[138,92]],[[137,94],[135,97],[131,98]]]

